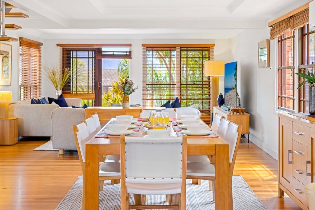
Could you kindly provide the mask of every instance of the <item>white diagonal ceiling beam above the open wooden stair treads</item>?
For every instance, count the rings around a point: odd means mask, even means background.
[[[34,0],[6,0],[6,2],[28,13],[34,14],[43,20],[57,23],[61,27],[68,27],[68,20]]]

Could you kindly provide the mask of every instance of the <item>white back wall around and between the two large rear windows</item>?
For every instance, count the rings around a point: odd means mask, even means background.
[[[60,66],[61,62],[61,52],[60,48],[56,44],[72,44],[72,43],[131,43],[132,47],[132,59],[130,62],[130,79],[132,79],[136,85],[138,85],[138,90],[131,95],[130,103],[142,104],[142,44],[143,43],[215,43],[215,59],[218,60],[231,60],[231,47],[228,44],[227,39],[45,39],[44,40],[44,57],[43,65],[57,65]],[[223,87],[223,83],[220,83]],[[54,97],[55,90],[53,86],[43,80],[43,95]],[[224,90],[224,88],[223,88]],[[221,90],[222,91],[222,90]]]

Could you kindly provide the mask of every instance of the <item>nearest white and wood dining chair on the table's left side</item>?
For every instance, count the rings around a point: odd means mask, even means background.
[[[88,127],[85,122],[73,126],[74,139],[76,141],[78,155],[82,168],[83,175],[83,197],[82,209],[84,205],[85,195],[85,146],[87,142],[94,136],[89,133]],[[120,163],[101,163],[99,167],[99,186],[100,190],[103,189],[102,183],[104,180],[120,179]]]

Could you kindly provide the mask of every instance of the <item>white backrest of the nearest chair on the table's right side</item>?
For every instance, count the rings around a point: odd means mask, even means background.
[[[230,122],[224,139],[226,143],[229,144],[229,162],[232,162],[233,157],[236,156],[234,151],[237,145],[238,135],[241,135],[241,133],[238,133],[238,125],[234,122]]]

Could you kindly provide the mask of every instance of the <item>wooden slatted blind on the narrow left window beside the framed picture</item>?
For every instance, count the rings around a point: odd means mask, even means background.
[[[42,43],[20,37],[20,100],[42,94]]]

